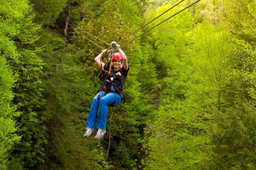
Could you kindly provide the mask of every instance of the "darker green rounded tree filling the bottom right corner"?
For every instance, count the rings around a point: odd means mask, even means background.
[[[237,99],[236,99],[237,100]],[[241,101],[243,103],[243,101]],[[255,111],[245,106],[227,109],[218,116],[218,129],[213,135],[213,169],[254,169]]]

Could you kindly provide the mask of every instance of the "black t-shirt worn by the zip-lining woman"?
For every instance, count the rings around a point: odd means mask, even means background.
[[[105,64],[103,69],[104,70],[109,70],[108,65]],[[114,67],[112,67],[111,69],[114,69]],[[120,88],[123,88],[123,86],[124,86],[124,82],[125,82],[126,77],[128,75],[129,69],[130,68],[128,67],[128,70],[125,70],[124,67],[122,67],[118,71],[114,72],[115,75],[113,76],[114,77],[113,87],[115,88],[116,94],[120,95],[120,93],[121,93]],[[108,79],[107,79],[107,82],[106,82],[107,91],[111,91],[111,83],[110,82],[111,82],[111,80],[110,80],[110,76],[109,76]]]

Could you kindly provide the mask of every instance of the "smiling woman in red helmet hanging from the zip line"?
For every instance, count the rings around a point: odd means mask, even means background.
[[[120,45],[116,44],[115,41],[113,41],[111,45],[114,45],[118,49],[119,53],[113,54],[112,61],[114,66],[111,66],[111,74],[106,79],[106,85],[104,87],[105,90],[100,91],[99,94],[97,94],[92,100],[84,137],[90,137],[96,127],[98,132],[94,139],[103,138],[104,134],[106,133],[108,106],[117,106],[123,97],[122,88],[129,72],[129,66],[127,63],[127,58],[123,50],[120,48]],[[108,65],[100,60],[101,55],[106,51],[107,49],[102,50],[102,52],[94,58],[94,61],[100,68],[108,71]],[[98,110],[99,116],[97,120]]]

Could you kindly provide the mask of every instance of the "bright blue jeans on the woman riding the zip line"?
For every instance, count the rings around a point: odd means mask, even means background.
[[[101,98],[98,99],[98,96],[100,93],[101,93]],[[106,96],[104,96],[105,91],[101,91],[100,93],[97,94],[92,100],[91,109],[89,112],[89,116],[87,118],[86,126],[87,128],[95,129],[95,124],[97,121],[96,128],[106,130],[108,105],[111,105],[114,103],[115,96],[112,92],[109,92]],[[117,106],[120,102],[121,102],[121,97],[118,94],[116,94],[116,101],[114,106]],[[99,108],[100,108],[100,111],[99,111],[99,116],[97,120]]]

